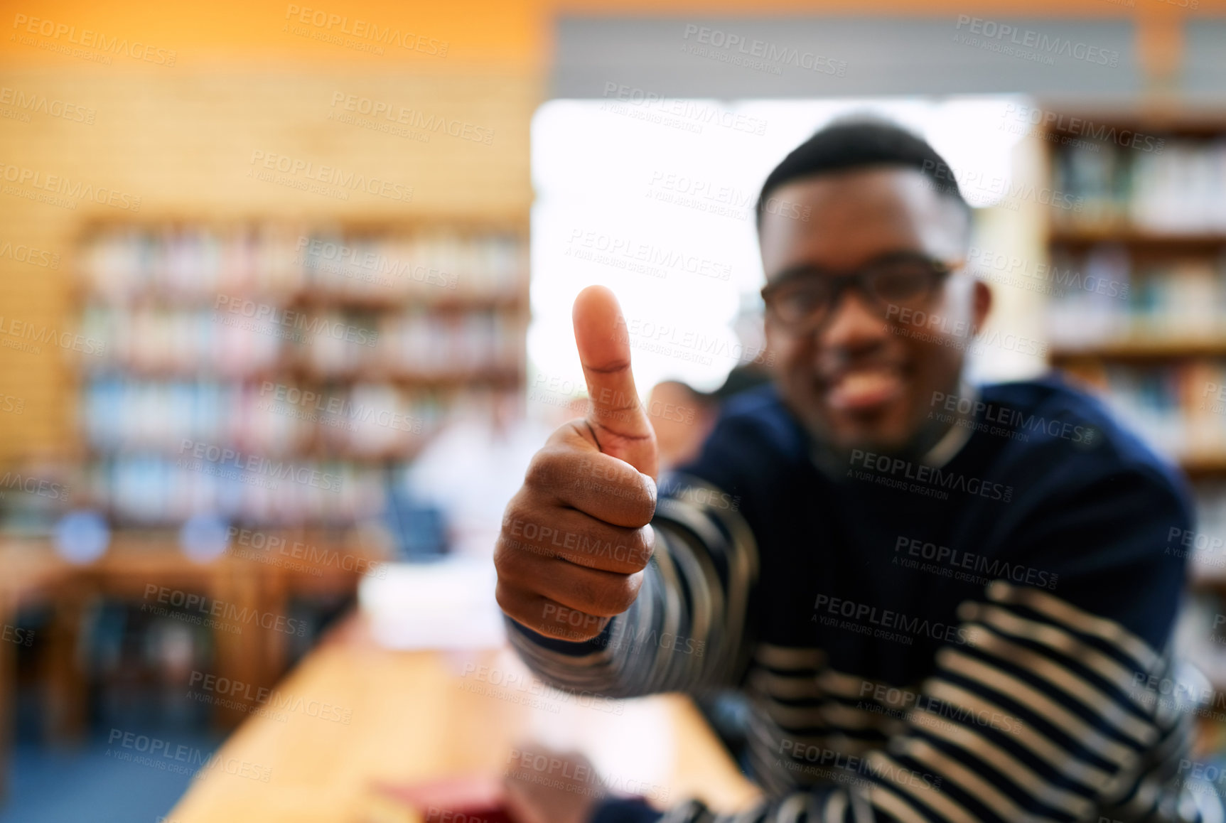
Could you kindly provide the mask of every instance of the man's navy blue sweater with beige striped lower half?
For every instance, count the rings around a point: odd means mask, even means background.
[[[923,460],[831,457],[772,386],[732,399],[661,478],[635,605],[588,643],[512,643],[563,688],[744,691],[770,800],[738,819],[1198,819],[1188,715],[1152,687],[1182,481],[1054,378],[931,413],[954,426]]]

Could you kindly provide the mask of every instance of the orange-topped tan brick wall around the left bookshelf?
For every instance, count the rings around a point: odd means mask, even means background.
[[[1179,1],[1179,0],[1177,0]],[[1189,0],[1190,1],[1190,0]],[[1199,12],[1226,10],[1226,0],[1198,0]],[[1143,15],[1143,54],[1161,74],[1177,52],[1178,6],[1134,0],[0,0],[0,86],[97,110],[92,125],[34,114],[0,118],[0,162],[43,174],[83,179],[141,195],[140,220],[216,216],[389,217],[386,201],[348,206],[311,202],[292,189],[243,179],[254,148],[280,151],[356,170],[379,170],[414,184],[406,215],[484,211],[525,216],[531,204],[528,124],[539,104],[558,15],[902,13],[902,15]],[[319,4],[319,5],[315,5]],[[387,45],[384,54],[302,37],[324,31],[302,23],[291,7],[412,32],[422,50]],[[51,36],[26,26],[50,21]],[[326,27],[326,20],[325,27]],[[15,26],[15,23],[18,23]],[[1163,26],[1163,23],[1166,23]],[[174,66],[114,55],[101,65],[39,45],[64,44],[92,29],[175,52]],[[55,32],[60,37],[55,37]],[[1165,36],[1163,36],[1165,32]],[[22,40],[26,42],[22,42]],[[1145,44],[1145,40],[1149,44]],[[432,44],[430,40],[434,43]],[[360,40],[370,44],[369,38]],[[446,43],[446,55],[429,54]],[[389,135],[338,128],[326,120],[337,91],[463,118],[498,137],[488,147],[436,140],[409,144]],[[0,102],[0,108],[5,108]],[[77,210],[0,194],[0,244],[32,245],[61,255],[58,270],[2,255],[0,316],[63,327],[75,315],[72,253],[82,224],[134,215],[83,202]],[[21,415],[0,415],[0,462],[71,449],[77,439],[71,353],[0,347],[0,395],[25,401]]]

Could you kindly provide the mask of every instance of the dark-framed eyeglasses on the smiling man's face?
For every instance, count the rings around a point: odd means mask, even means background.
[[[879,258],[848,275],[812,266],[785,271],[763,288],[766,309],[788,330],[804,334],[830,316],[843,289],[855,288],[886,316],[890,307],[924,308],[945,278],[961,267],[911,251]]]

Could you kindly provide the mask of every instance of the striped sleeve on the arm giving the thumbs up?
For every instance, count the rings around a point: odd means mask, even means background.
[[[608,697],[734,684],[749,649],[758,549],[731,498],[694,477],[662,478],[656,551],[634,605],[586,643],[509,621],[511,644],[543,681]]]

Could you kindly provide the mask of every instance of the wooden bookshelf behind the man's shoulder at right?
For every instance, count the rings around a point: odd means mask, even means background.
[[[1192,482],[1187,552],[1193,662],[1226,688],[1226,120],[1103,120],[1138,148],[1049,132],[1052,185],[1081,199],[1053,216],[1052,362],[1108,405]],[[1159,151],[1161,147],[1161,151]]]

